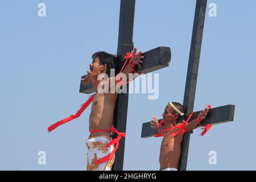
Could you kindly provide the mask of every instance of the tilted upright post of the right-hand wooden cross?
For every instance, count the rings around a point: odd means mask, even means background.
[[[183,100],[183,106],[187,113],[192,113],[195,102],[196,81],[199,68],[201,44],[203,39],[206,7],[207,0],[196,1],[196,11],[188,61],[187,80]],[[185,171],[187,169],[189,138],[190,133],[185,133],[183,136],[183,142],[181,143],[181,154],[178,166],[178,170],[180,171]]]

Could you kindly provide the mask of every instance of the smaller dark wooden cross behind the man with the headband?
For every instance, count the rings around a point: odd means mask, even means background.
[[[196,94],[196,81],[197,73],[199,68],[199,59],[201,44],[203,39],[203,30],[204,30],[204,19],[205,19],[205,10],[207,7],[207,0],[197,0],[196,1],[196,11],[193,24],[193,33],[191,40],[191,49],[189,54],[188,61],[188,71],[187,71],[187,80],[185,85],[184,100],[183,106],[187,113],[192,113],[195,101]],[[224,122],[230,122],[234,119],[234,105],[226,105],[221,107],[216,107],[209,110],[209,115],[207,119],[202,122],[202,125],[205,124],[220,124]],[[200,113],[197,111],[193,114],[192,119],[195,119],[196,116]],[[188,117],[189,114],[186,116]],[[186,117],[185,117],[186,119]],[[162,119],[159,119],[159,121]],[[142,125],[142,138],[152,137],[156,134],[156,130],[150,127],[150,122],[143,123]],[[183,136],[183,142],[181,143],[181,154],[179,160],[178,170],[185,171],[187,169],[187,159],[188,159],[188,147],[189,147],[189,138],[190,132],[187,132]]]

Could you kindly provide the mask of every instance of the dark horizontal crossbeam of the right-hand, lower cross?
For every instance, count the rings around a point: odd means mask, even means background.
[[[235,109],[234,105],[214,107],[209,110],[207,118],[201,123],[201,125],[207,125],[207,124],[217,125],[220,123],[231,122],[234,120],[234,109]],[[189,121],[196,119],[199,113],[200,111],[194,112]],[[184,117],[184,120],[187,120],[190,114],[191,113],[186,114]],[[158,119],[159,122],[161,120],[162,119]],[[200,126],[198,125],[197,127],[200,127]],[[150,122],[146,122],[142,124],[141,138],[154,137],[156,133],[157,131],[151,127]]]

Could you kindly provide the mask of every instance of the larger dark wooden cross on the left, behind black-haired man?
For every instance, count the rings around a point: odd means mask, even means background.
[[[133,23],[134,23],[135,0],[121,0],[119,15],[119,35],[117,56],[121,57],[119,65],[115,68],[115,72],[119,72],[123,65],[123,55],[133,50]],[[148,73],[157,69],[165,68],[170,65],[171,49],[169,47],[157,47],[150,51],[144,52],[144,63],[141,68],[135,68],[138,73]],[[84,78],[85,76],[82,76]],[[90,94],[96,89],[92,85],[83,86],[80,84],[80,93]],[[127,92],[129,85],[127,85]],[[115,102],[114,111],[114,127],[119,132],[126,132],[128,93],[118,94]],[[115,152],[114,171],[123,169],[123,156],[125,152],[125,138],[121,138],[119,148]]]

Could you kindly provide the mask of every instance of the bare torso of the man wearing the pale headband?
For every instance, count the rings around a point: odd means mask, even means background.
[[[173,132],[170,131],[163,137],[159,157],[160,170],[177,168],[179,164],[183,136],[178,134],[176,137],[172,137],[171,133]]]

